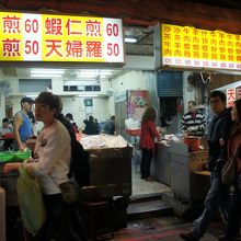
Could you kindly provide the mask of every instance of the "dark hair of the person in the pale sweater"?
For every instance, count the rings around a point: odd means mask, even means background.
[[[50,92],[42,92],[42,93],[39,93],[39,95],[35,100],[35,103],[46,104],[46,105],[49,106],[50,110],[56,108],[55,117],[57,115],[59,115],[59,113],[62,110],[61,99],[58,95],[53,94]]]

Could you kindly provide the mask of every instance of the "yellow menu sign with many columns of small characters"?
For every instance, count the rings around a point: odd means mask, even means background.
[[[241,70],[241,35],[161,25],[162,65]]]

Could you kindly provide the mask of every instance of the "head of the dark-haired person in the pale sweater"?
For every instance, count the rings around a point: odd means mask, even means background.
[[[42,92],[35,100],[35,117],[44,124],[56,118],[61,110],[60,97],[50,92]]]

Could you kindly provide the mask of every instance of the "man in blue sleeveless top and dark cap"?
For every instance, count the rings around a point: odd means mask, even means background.
[[[13,117],[13,134],[19,150],[26,148],[26,140],[33,136],[31,119],[27,113],[32,110],[34,101],[31,97],[23,97],[20,102],[21,111]]]

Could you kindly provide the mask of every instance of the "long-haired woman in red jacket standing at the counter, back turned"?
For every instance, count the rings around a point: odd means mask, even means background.
[[[146,181],[151,181],[150,164],[154,151],[154,138],[159,137],[154,124],[156,118],[157,112],[152,106],[147,107],[141,117],[140,148],[142,149],[142,158],[140,162],[140,173],[141,179]]]

